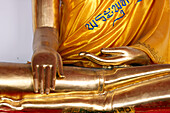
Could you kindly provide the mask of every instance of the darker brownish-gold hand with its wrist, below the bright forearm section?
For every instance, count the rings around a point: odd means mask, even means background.
[[[32,69],[34,91],[43,94],[55,90],[56,73],[63,77],[62,58],[57,51],[59,46],[57,30],[50,27],[37,28],[34,35]]]

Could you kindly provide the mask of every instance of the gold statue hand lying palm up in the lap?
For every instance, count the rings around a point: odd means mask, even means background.
[[[116,66],[124,64],[145,65],[150,63],[150,58],[146,55],[145,52],[127,46],[103,48],[101,53],[104,55],[96,56],[88,52],[81,52],[79,55],[103,66]]]

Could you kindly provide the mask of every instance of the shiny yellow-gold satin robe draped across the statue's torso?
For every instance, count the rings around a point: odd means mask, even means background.
[[[62,43],[58,51],[64,63],[97,67],[98,65],[78,54],[86,51],[101,55],[102,48],[122,46],[144,51],[154,63],[170,63],[169,2],[169,0],[140,2],[138,0],[122,2],[121,0],[63,0],[60,26]],[[112,11],[113,16],[111,16]],[[108,18],[108,15],[111,17]],[[97,16],[99,20],[96,19]],[[119,17],[122,18],[116,20]],[[88,25],[93,28],[90,23],[94,27],[93,30],[88,29]]]

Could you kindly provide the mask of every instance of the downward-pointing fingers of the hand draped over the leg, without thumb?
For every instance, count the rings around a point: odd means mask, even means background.
[[[34,91],[41,94],[50,93],[52,65],[36,65],[34,72]],[[55,86],[55,85],[54,85]]]

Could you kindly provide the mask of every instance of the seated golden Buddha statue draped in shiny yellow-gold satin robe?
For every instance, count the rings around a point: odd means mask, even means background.
[[[0,64],[0,106],[111,111],[169,100],[169,0],[32,2],[32,62]]]

